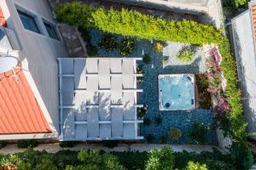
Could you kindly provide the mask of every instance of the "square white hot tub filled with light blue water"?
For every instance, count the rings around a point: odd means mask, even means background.
[[[195,108],[195,77],[192,74],[159,75],[160,111]]]

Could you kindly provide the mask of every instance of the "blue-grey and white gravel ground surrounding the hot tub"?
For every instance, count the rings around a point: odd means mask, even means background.
[[[102,37],[102,32],[91,30],[90,31],[91,44],[97,46]],[[120,38],[120,36],[119,36]],[[163,53],[155,54],[153,51],[153,42],[148,40],[137,40],[137,49],[129,56],[126,57],[142,57],[143,54],[148,54],[151,57],[151,63],[143,65],[143,82],[139,88],[143,88],[143,93],[140,94],[140,103],[148,106],[148,112],[146,117],[151,119],[149,126],[141,125],[141,135],[147,136],[150,133],[154,140],[152,143],[158,143],[160,136],[168,136],[167,131],[170,127],[177,127],[183,131],[183,136],[178,141],[172,141],[172,139],[166,139],[167,144],[189,144],[191,141],[186,138],[191,123],[201,122],[209,129],[212,127],[212,111],[195,109],[193,111],[159,111],[158,105],[158,75],[160,74],[196,74],[206,71],[204,52],[202,48],[197,48],[195,53],[195,59],[189,64],[183,64],[175,58],[178,51],[189,44],[166,42],[166,47]],[[99,57],[124,57],[114,50],[106,52],[102,48],[98,49]],[[163,56],[168,56],[168,62],[163,65]],[[154,117],[161,116],[162,123],[156,125],[154,123]],[[217,144],[216,133],[210,130],[207,136],[207,144]]]

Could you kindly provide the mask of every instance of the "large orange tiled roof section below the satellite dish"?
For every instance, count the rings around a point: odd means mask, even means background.
[[[0,134],[50,133],[37,100],[20,69],[0,74]]]

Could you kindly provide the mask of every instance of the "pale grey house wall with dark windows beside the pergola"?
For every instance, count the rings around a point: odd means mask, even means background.
[[[39,105],[52,127],[58,130],[58,57],[67,57],[64,43],[48,36],[43,20],[55,24],[47,0],[0,0],[8,27],[15,31],[20,44],[19,57],[26,77],[32,86]],[[42,34],[26,30],[17,8],[35,14]]]

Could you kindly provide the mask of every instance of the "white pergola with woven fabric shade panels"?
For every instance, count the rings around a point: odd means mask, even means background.
[[[137,60],[60,58],[60,140],[143,139],[138,136]]]

